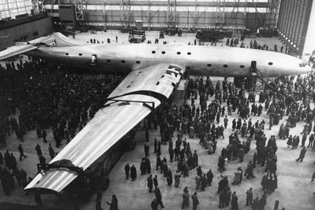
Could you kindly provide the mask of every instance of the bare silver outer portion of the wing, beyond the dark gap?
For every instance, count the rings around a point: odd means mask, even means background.
[[[139,100],[153,100],[156,104],[160,102],[152,97],[142,95],[129,95],[123,97],[128,100],[133,98]],[[109,106],[99,110],[96,116],[72,139],[72,141],[50,163],[67,159],[78,167],[86,169],[119,139],[145,118],[151,110],[142,103],[130,103],[125,106]],[[113,121],[112,119],[116,120]],[[42,188],[60,192],[69,185],[77,173],[68,169],[50,169],[39,173],[31,181],[25,190]]]

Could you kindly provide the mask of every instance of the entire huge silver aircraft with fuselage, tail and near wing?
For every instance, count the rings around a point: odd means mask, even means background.
[[[54,42],[55,45],[48,45]],[[252,61],[266,77],[311,71],[287,54],[229,47],[183,44],[81,44],[60,33],[0,52],[0,60],[25,54],[99,71],[129,73],[72,141],[37,174],[25,190],[60,192],[108,151],[119,139],[168,99],[183,73],[216,77],[246,77]],[[66,161],[62,166],[61,162]],[[66,165],[71,167],[66,167]]]

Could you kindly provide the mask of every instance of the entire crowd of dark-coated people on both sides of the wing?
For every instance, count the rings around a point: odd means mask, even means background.
[[[234,46],[235,40],[233,42]],[[253,43],[253,46],[257,45]],[[267,49],[267,46],[265,48]],[[20,61],[17,64],[8,62],[6,66],[0,66],[0,146],[6,147],[6,138],[14,131],[21,143],[17,148],[20,160],[27,157],[22,148],[26,132],[36,130],[37,137],[42,139],[40,141],[48,143],[47,132],[51,131],[56,148],[61,144],[69,143],[104,104],[106,96],[121,81],[121,78],[116,78],[112,83],[105,84],[104,79],[92,80],[87,76],[62,68],[44,60],[33,59]],[[243,192],[231,192],[229,180],[227,176],[224,176],[224,171],[229,167],[228,163],[234,161],[241,164],[244,156],[249,156],[248,152],[255,150],[244,173],[242,167],[238,166],[230,183],[241,185],[243,177],[254,179],[256,177],[254,169],[259,166],[264,167],[266,174],[261,181],[261,198],[253,199],[251,188],[246,191],[246,205],[251,205],[253,210],[264,209],[267,195],[277,189],[278,181],[277,137],[271,135],[268,139],[265,129],[267,124],[269,129],[272,129],[274,125],[281,123],[278,139],[288,139],[288,146],[296,149],[300,144],[299,135],[292,136],[290,128],[295,127],[298,122],[305,122],[300,133],[302,134],[302,150],[296,160],[302,161],[305,157],[307,135],[309,135],[308,147],[314,149],[314,135],[310,134],[312,131],[315,132],[315,123],[314,127],[312,125],[315,110],[310,108],[310,102],[315,101],[315,93],[312,91],[313,80],[313,73],[304,78],[298,77],[297,80],[293,77],[277,78],[275,81],[277,90],[275,92],[262,91],[258,105],[255,103],[254,93],[247,94],[244,87],[236,88],[226,79],[215,83],[209,77],[191,78],[186,91],[190,104],[186,103],[178,108],[174,104],[164,103],[143,121],[147,142],[150,141],[149,129],[159,128],[161,135],[161,141],[154,139],[153,152],[150,153],[149,146],[144,145],[144,157],[140,163],[140,174],[149,174],[146,179],[148,191],[154,191],[151,208],[157,209],[158,205],[164,207],[161,184],[159,185],[158,181],[159,177],[163,176],[168,186],[172,186],[174,180],[176,188],[183,188],[182,208],[189,205],[191,197],[193,209],[197,209],[198,204],[203,202],[198,198],[197,191],[206,191],[206,188],[212,186],[212,170],[217,169],[222,176],[222,180],[217,183],[219,207],[224,208],[231,204],[232,210],[239,209],[236,193]],[[197,100],[199,100],[198,103]],[[251,109],[250,103],[252,103]],[[262,112],[269,116],[269,122],[263,119],[255,123],[251,121],[251,116],[260,116]],[[239,116],[229,122],[227,116],[230,117],[232,113]],[[287,122],[283,122],[284,116],[288,116]],[[228,126],[232,130],[230,135],[226,133]],[[229,136],[227,146],[218,152],[217,165],[213,165],[204,172],[199,164],[199,151],[206,150],[211,157],[211,154],[217,153],[217,141],[219,139],[224,141],[225,136]],[[190,139],[187,138],[198,139],[200,148],[192,149]],[[244,138],[246,140],[242,141]],[[253,141],[256,142],[255,148]],[[168,155],[162,154],[163,145],[168,146]],[[56,155],[55,151],[51,143],[47,147],[52,159]],[[39,156],[39,163],[45,164],[46,158],[38,144],[35,151]],[[152,154],[156,155],[156,167],[153,169],[149,158]],[[166,158],[167,156],[169,159]],[[176,170],[172,171],[168,161],[169,163],[177,161]],[[4,163],[5,166],[2,168]],[[155,173],[154,169],[161,170],[163,175],[152,176],[152,173]],[[191,196],[188,188],[180,185],[180,180],[195,174],[195,169],[196,187]],[[137,182],[135,165],[127,164],[124,170],[127,179],[130,177],[132,181]],[[0,153],[0,179],[6,195],[9,195],[15,186],[13,177],[22,187],[25,187],[29,181],[26,172],[23,169],[17,169],[16,158],[12,153],[7,151],[4,157]],[[108,204],[117,208],[116,196],[112,199],[112,202]],[[100,201],[97,206],[100,208]]]

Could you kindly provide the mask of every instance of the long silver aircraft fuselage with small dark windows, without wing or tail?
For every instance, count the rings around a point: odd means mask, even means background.
[[[125,72],[156,63],[181,65],[191,75],[247,76],[251,61],[267,77],[299,75],[309,66],[293,56],[264,50],[192,45],[92,44],[69,47],[40,47],[27,53],[47,60],[99,71]],[[91,65],[96,55],[97,66]]]

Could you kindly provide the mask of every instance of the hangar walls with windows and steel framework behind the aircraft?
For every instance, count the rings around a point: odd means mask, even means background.
[[[276,36],[292,52],[301,56],[308,37],[307,30],[310,30],[311,9],[311,0],[282,3],[279,0],[4,0],[0,3],[0,20],[3,23],[11,19],[21,22],[22,19],[27,21],[30,16],[45,14],[51,18],[54,29],[72,31],[129,30],[136,27],[137,21],[146,30],[182,28],[196,32],[197,29],[222,28],[233,32],[246,29],[256,33],[260,29],[261,33],[266,31],[267,34],[276,30]],[[50,27],[46,22],[40,24]],[[3,36],[8,34],[5,29],[9,27],[3,25],[0,28]],[[34,29],[37,36],[29,36],[26,31],[20,39],[7,41],[11,46],[14,41],[23,41],[26,36],[27,40],[43,36],[48,33],[47,30]],[[8,45],[1,46],[4,49]]]

